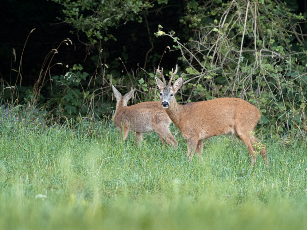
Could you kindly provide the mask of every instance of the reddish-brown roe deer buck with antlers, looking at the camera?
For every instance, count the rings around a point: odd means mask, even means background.
[[[259,109],[240,98],[216,98],[203,102],[190,102],[179,105],[174,97],[183,83],[182,77],[172,84],[172,79],[177,73],[172,69],[169,84],[166,85],[163,68],[160,72],[163,82],[155,76],[160,92],[160,101],[169,118],[180,129],[182,136],[188,141],[187,157],[192,160],[194,152],[200,155],[203,152],[203,140],[212,136],[233,134],[244,142],[251,156],[251,165],[255,164],[257,155],[254,155],[254,142],[258,143],[255,136],[250,136],[260,118]],[[266,148],[260,151],[266,164],[269,158]]]

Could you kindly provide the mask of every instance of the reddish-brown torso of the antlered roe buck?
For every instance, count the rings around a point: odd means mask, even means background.
[[[185,138],[198,136],[199,140],[223,134],[237,135],[237,127],[253,131],[260,118],[259,110],[240,98],[216,98],[176,107],[165,109],[170,119]]]

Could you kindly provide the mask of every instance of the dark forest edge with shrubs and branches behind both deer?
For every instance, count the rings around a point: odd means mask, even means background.
[[[109,116],[111,84],[158,100],[156,68],[178,64],[178,102],[240,97],[275,135],[306,135],[306,12],[305,0],[2,0],[1,102],[59,122]]]

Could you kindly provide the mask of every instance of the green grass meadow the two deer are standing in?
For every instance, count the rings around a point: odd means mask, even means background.
[[[215,137],[190,163],[174,126],[162,151],[156,133],[138,148],[112,123],[30,117],[0,123],[0,229],[306,229],[304,140],[264,137],[270,167],[251,167],[243,142]]]

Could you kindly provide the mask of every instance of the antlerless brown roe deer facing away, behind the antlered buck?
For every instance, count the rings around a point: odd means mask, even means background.
[[[135,138],[138,146],[143,140],[143,132],[155,131],[158,133],[164,149],[165,138],[169,145],[177,148],[177,141],[169,131],[171,119],[161,107],[160,102],[141,102],[135,105],[127,106],[129,99],[132,97],[134,90],[122,96],[112,86],[116,98],[116,110],[113,115],[115,126],[120,130],[124,129],[123,141],[126,140],[129,132],[135,132]],[[121,137],[119,138],[120,141]]]

